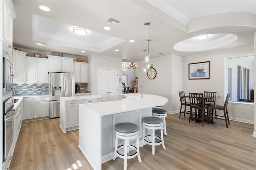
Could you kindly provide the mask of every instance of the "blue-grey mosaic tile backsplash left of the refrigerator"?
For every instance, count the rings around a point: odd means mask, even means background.
[[[49,95],[49,83],[14,83],[13,87],[14,95]]]

